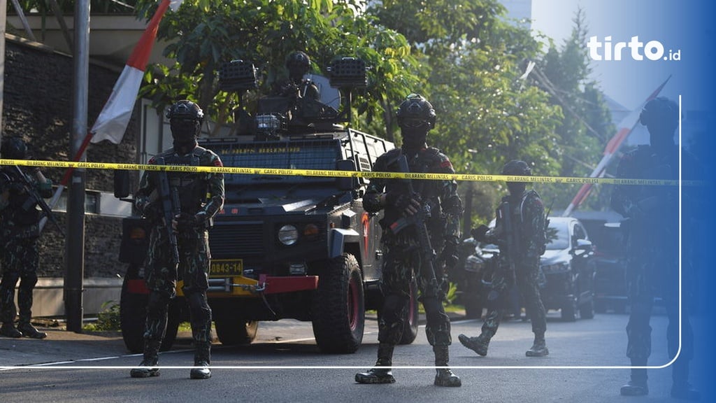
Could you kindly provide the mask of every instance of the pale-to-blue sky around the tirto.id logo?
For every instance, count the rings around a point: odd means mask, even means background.
[[[714,6],[707,0],[533,0],[532,27],[555,39],[561,45],[574,27],[578,7],[584,10],[587,37],[601,42],[602,60],[592,60],[592,78],[599,82],[606,95],[625,107],[637,108],[664,80],[671,75],[661,95],[676,99],[682,95],[684,108],[710,103],[714,87],[713,74],[707,69],[707,52],[712,52],[714,29],[709,19]],[[663,57],[677,54],[680,60],[649,60],[644,47],[639,54],[644,60],[632,60],[631,48],[621,52],[621,60],[605,60],[604,44],[611,37],[616,42],[630,42],[637,36],[646,44],[657,41]],[[656,42],[649,47],[658,54]],[[587,44],[585,44],[587,47]],[[675,58],[675,57],[674,57]]]

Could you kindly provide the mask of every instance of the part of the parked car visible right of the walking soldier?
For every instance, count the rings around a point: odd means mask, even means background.
[[[594,247],[574,217],[549,217],[549,242],[540,259],[541,290],[547,310],[560,310],[563,321],[594,318]]]

